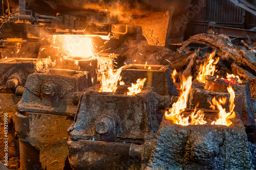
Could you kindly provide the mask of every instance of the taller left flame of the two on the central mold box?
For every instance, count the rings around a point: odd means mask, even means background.
[[[101,92],[116,92],[118,81],[121,80],[122,69],[117,69],[116,71],[111,68],[108,70],[108,76],[102,75],[101,85],[99,91]]]

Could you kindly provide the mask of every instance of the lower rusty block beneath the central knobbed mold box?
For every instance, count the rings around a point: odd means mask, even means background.
[[[79,139],[68,141],[69,161],[77,169],[140,169],[139,157],[130,158],[131,143]]]

